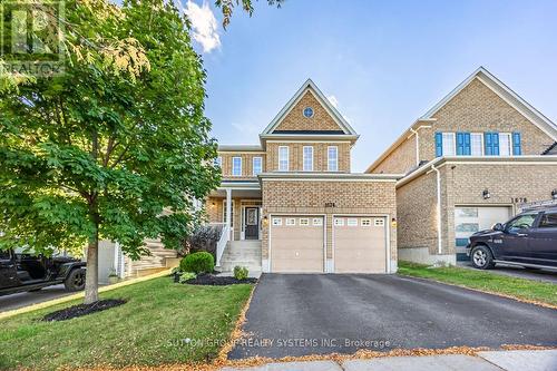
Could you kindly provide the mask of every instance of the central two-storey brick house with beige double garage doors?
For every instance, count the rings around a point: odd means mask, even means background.
[[[354,174],[358,134],[307,80],[260,134],[260,145],[221,145],[223,182],[206,201],[227,233],[225,270],[397,270],[394,186],[399,176]],[[226,245],[225,245],[226,243]]]

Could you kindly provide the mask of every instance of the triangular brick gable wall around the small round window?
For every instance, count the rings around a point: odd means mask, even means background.
[[[305,107],[313,108],[313,117],[303,115]],[[275,130],[342,130],[325,108],[321,106],[311,90],[306,91],[302,99],[283,118]]]

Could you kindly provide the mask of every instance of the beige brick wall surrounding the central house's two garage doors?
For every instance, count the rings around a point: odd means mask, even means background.
[[[326,257],[332,258],[332,215],[388,214],[397,217],[394,182],[263,182],[263,215],[273,213],[325,214]],[[325,207],[334,203],[335,207]],[[391,260],[397,260],[397,231],[390,228]],[[263,258],[268,258],[268,225],[263,226]]]

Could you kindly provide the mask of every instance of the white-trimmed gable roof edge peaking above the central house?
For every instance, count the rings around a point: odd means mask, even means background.
[[[278,114],[273,118],[273,120],[265,127],[265,129],[260,134],[260,137],[272,136],[275,128],[282,123],[284,117],[294,108],[294,106],[302,99],[306,91],[313,94],[317,101],[325,108],[328,114],[334,119],[336,125],[342,129],[341,135],[350,135],[358,137],[355,130],[350,126],[346,119],[334,108],[334,106],[329,101],[329,99],[323,95],[323,92],[317,88],[317,86],[312,81],[312,79],[305,80],[305,82],[297,89],[294,96],[286,102],[286,105],[278,111]]]

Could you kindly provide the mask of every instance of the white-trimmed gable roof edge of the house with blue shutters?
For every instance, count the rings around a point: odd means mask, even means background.
[[[530,104],[524,100],[518,94],[512,91],[501,80],[489,72],[485,67],[480,66],[462,82],[460,82],[451,92],[442,98],[437,105],[431,107],[426,114],[419,117],[398,139],[394,141],[378,159],[375,159],[365,170],[371,172],[387,156],[389,156],[398,146],[405,139],[413,135],[413,130],[423,125],[436,121],[433,117],[444,105],[447,105],[455,96],[462,91],[475,79],[481,81],[485,86],[491,89],[498,97],[505,100],[508,105],[515,108],[519,114],[526,117],[530,123],[536,125],[541,131],[547,134],[550,138],[557,141],[557,126],[544,116],[540,111],[534,108]],[[428,125],[429,125],[428,124]]]

